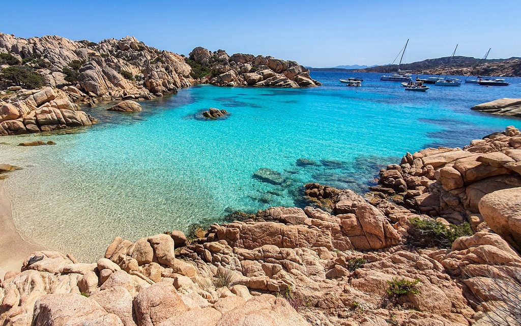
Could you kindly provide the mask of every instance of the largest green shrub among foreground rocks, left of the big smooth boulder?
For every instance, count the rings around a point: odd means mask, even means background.
[[[411,222],[411,234],[413,240],[422,246],[439,246],[449,248],[454,240],[461,236],[472,235],[470,224],[445,225],[435,219],[420,219],[413,217]]]

